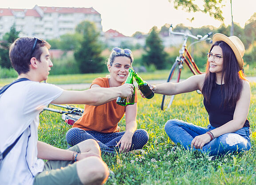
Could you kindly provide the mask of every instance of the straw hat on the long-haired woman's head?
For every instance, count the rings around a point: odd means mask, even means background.
[[[244,44],[243,42],[236,36],[230,36],[227,37],[226,35],[223,35],[221,33],[216,33],[212,37],[212,42],[215,43],[216,41],[224,41],[228,44],[228,46],[231,47],[234,54],[236,55],[237,62],[239,64],[240,70],[242,70],[244,65]]]

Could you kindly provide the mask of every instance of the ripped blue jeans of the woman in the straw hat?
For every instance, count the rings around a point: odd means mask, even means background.
[[[197,135],[205,134],[207,131],[213,130],[210,124],[207,128],[199,127],[192,123],[187,123],[178,119],[170,119],[164,126],[164,130],[174,143],[180,143],[185,149],[191,148],[191,142]],[[220,135],[211,142],[206,143],[199,150],[209,155],[222,155],[231,152],[242,152],[251,149],[251,141],[249,138],[250,128],[243,127],[234,133]]]

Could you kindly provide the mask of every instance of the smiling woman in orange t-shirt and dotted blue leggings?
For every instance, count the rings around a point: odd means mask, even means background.
[[[90,88],[115,88],[124,83],[133,56],[129,49],[113,48],[108,58],[110,77],[96,78]],[[125,113],[126,131],[119,132],[118,122]],[[141,149],[148,142],[148,132],[137,128],[137,93],[135,103],[126,106],[116,104],[116,99],[99,106],[85,105],[84,114],[67,132],[69,145],[74,146],[86,139],[95,139],[103,152]]]

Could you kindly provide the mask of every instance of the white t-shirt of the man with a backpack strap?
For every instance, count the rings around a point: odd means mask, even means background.
[[[55,85],[22,81],[0,95],[0,151],[24,131],[0,165],[0,184],[32,185],[43,170],[44,161],[37,158],[39,113],[62,92]]]

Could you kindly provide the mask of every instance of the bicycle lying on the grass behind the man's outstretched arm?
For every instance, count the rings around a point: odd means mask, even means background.
[[[84,113],[84,110],[82,108],[77,108],[73,105],[58,105],[58,104],[50,104],[50,105],[68,109],[67,111],[63,111],[61,109],[49,108],[49,107],[45,107],[43,109],[43,111],[51,111],[51,112],[57,112],[57,113],[62,114],[61,118],[68,125],[73,125]]]

